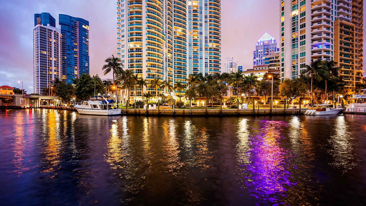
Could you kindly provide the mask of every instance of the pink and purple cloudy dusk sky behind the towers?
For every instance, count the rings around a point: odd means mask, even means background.
[[[78,3],[76,3],[78,2]],[[20,6],[21,5],[21,6]],[[34,14],[67,14],[89,21],[90,74],[103,76],[104,59],[117,53],[115,0],[1,0],[0,85],[33,92]],[[364,12],[365,13],[365,12]],[[221,59],[234,56],[253,67],[253,51],[264,32],[279,38],[279,0],[221,0]],[[223,65],[222,65],[223,67]]]

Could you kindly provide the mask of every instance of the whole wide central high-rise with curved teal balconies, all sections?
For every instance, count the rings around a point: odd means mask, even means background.
[[[219,45],[220,0],[117,1],[117,56],[148,81],[186,85],[191,73],[220,72]],[[130,95],[141,99],[141,88]]]

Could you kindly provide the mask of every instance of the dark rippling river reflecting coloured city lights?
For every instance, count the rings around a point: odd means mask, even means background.
[[[0,202],[365,205],[365,122],[0,110]]]

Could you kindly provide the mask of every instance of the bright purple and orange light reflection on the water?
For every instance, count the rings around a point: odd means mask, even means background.
[[[280,146],[283,139],[281,121],[261,121],[261,131],[252,138],[250,171],[246,186],[250,194],[263,203],[280,203],[284,192],[294,183],[290,181],[287,162],[289,151]]]

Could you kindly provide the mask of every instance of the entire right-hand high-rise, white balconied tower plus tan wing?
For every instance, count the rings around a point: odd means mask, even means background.
[[[311,59],[334,59],[341,68],[350,68],[341,71],[346,81],[351,81],[352,73],[354,81],[358,79],[360,72],[351,70],[362,70],[362,0],[281,0],[280,4],[282,80],[299,77]]]

